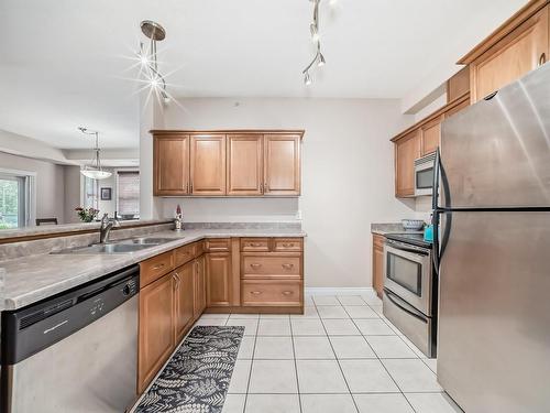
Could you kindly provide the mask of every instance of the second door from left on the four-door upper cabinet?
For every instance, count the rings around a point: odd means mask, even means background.
[[[190,138],[191,194],[226,195],[226,135]]]

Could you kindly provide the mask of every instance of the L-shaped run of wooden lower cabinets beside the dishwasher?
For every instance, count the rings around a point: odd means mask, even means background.
[[[205,311],[301,314],[302,247],[301,238],[217,238],[141,262],[138,393]]]

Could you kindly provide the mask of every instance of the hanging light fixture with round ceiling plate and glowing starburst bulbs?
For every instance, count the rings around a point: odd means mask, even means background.
[[[145,50],[143,43],[140,43],[138,58],[142,65],[142,73],[145,75],[145,80],[150,84],[152,90],[157,93],[165,102],[169,101],[169,96],[166,93],[166,80],[158,70],[158,62],[156,61],[156,42],[161,42],[166,37],[164,28],[152,21],[144,20],[140,24],[142,33],[150,39],[148,50]]]

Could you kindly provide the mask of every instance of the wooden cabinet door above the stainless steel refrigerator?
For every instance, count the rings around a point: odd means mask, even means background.
[[[529,18],[472,64],[472,101],[517,80],[548,59],[549,7]]]

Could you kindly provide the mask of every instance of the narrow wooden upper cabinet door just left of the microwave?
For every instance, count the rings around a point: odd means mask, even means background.
[[[415,160],[418,157],[420,157],[419,130],[395,142],[395,196],[415,195]]]

